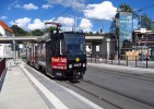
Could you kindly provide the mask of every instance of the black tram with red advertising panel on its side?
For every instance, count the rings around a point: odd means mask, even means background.
[[[52,77],[83,78],[86,71],[85,35],[83,33],[50,32],[38,44],[27,47],[27,63],[45,70]]]

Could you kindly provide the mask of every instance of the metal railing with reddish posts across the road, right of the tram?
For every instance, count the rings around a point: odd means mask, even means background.
[[[149,68],[154,69],[154,60],[150,57],[139,57],[139,56],[91,56],[87,58],[87,62],[91,63],[106,63],[106,64],[115,64],[115,65],[125,65],[132,68]]]

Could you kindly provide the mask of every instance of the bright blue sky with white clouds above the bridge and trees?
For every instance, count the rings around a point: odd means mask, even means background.
[[[117,9],[123,3],[134,10],[143,9],[141,14],[154,21],[154,0],[1,0],[0,20],[28,32],[50,26],[45,22],[61,23],[62,31],[72,31],[76,16],[76,29],[99,32],[103,28],[107,33]]]

